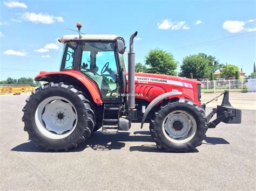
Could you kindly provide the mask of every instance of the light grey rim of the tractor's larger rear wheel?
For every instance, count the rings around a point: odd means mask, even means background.
[[[39,103],[35,121],[38,130],[51,139],[68,137],[77,125],[77,111],[64,97],[52,96]]]

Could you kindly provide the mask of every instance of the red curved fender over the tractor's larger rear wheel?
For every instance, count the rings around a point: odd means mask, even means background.
[[[81,86],[84,86],[83,89],[87,89],[89,91],[93,101],[96,104],[103,103],[96,84],[76,70],[67,70],[62,72],[40,72],[40,74],[35,77],[35,81],[68,82],[71,85],[72,82],[78,81],[80,84],[82,84]]]

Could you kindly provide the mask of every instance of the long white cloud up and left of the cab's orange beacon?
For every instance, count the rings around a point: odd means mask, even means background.
[[[64,20],[62,17],[55,17],[48,14],[43,13],[34,13],[34,12],[25,12],[22,14],[21,17],[23,20],[32,22],[32,23],[43,23],[43,24],[52,24],[54,22],[60,22],[63,23]]]

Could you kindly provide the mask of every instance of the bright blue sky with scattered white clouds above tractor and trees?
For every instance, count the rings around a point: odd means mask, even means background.
[[[0,6],[0,80],[58,70],[62,44],[56,39],[76,34],[66,28],[76,29],[77,22],[86,34],[118,34],[126,42],[138,31],[136,62],[158,47],[180,64],[204,52],[253,72],[255,1],[3,0]]]

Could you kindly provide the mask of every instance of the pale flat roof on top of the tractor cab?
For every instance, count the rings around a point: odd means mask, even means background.
[[[58,39],[60,43],[65,43],[70,40],[105,40],[112,41],[116,39],[122,39],[123,37],[114,34],[81,34],[79,35],[64,35],[62,38]]]

